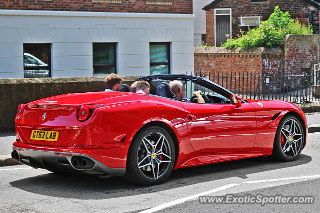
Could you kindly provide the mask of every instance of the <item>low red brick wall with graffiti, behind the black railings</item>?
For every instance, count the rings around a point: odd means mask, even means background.
[[[242,91],[242,88],[246,90],[246,87],[253,92],[255,82],[253,78],[249,78],[250,75],[257,76],[258,73],[281,69],[282,57],[283,51],[280,48],[256,47],[240,50],[194,47],[194,72],[199,75],[201,69],[202,76],[210,76],[210,80],[234,93]],[[237,76],[236,80],[234,76]]]

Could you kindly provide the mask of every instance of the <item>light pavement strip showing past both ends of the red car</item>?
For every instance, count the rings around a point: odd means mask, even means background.
[[[305,113],[308,132],[320,132],[320,112]],[[11,158],[12,143],[15,141],[15,133],[0,133],[0,167],[19,165]]]

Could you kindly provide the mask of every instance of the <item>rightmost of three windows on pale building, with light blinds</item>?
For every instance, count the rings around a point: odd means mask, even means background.
[[[150,75],[170,73],[170,43],[150,43]]]

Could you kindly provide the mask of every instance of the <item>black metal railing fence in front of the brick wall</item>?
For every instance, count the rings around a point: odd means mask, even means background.
[[[299,73],[211,71],[195,72],[244,99],[283,100],[292,103],[320,101],[320,72]]]

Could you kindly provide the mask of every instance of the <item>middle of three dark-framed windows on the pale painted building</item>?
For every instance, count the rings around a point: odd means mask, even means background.
[[[93,43],[93,76],[116,73],[115,43]]]

